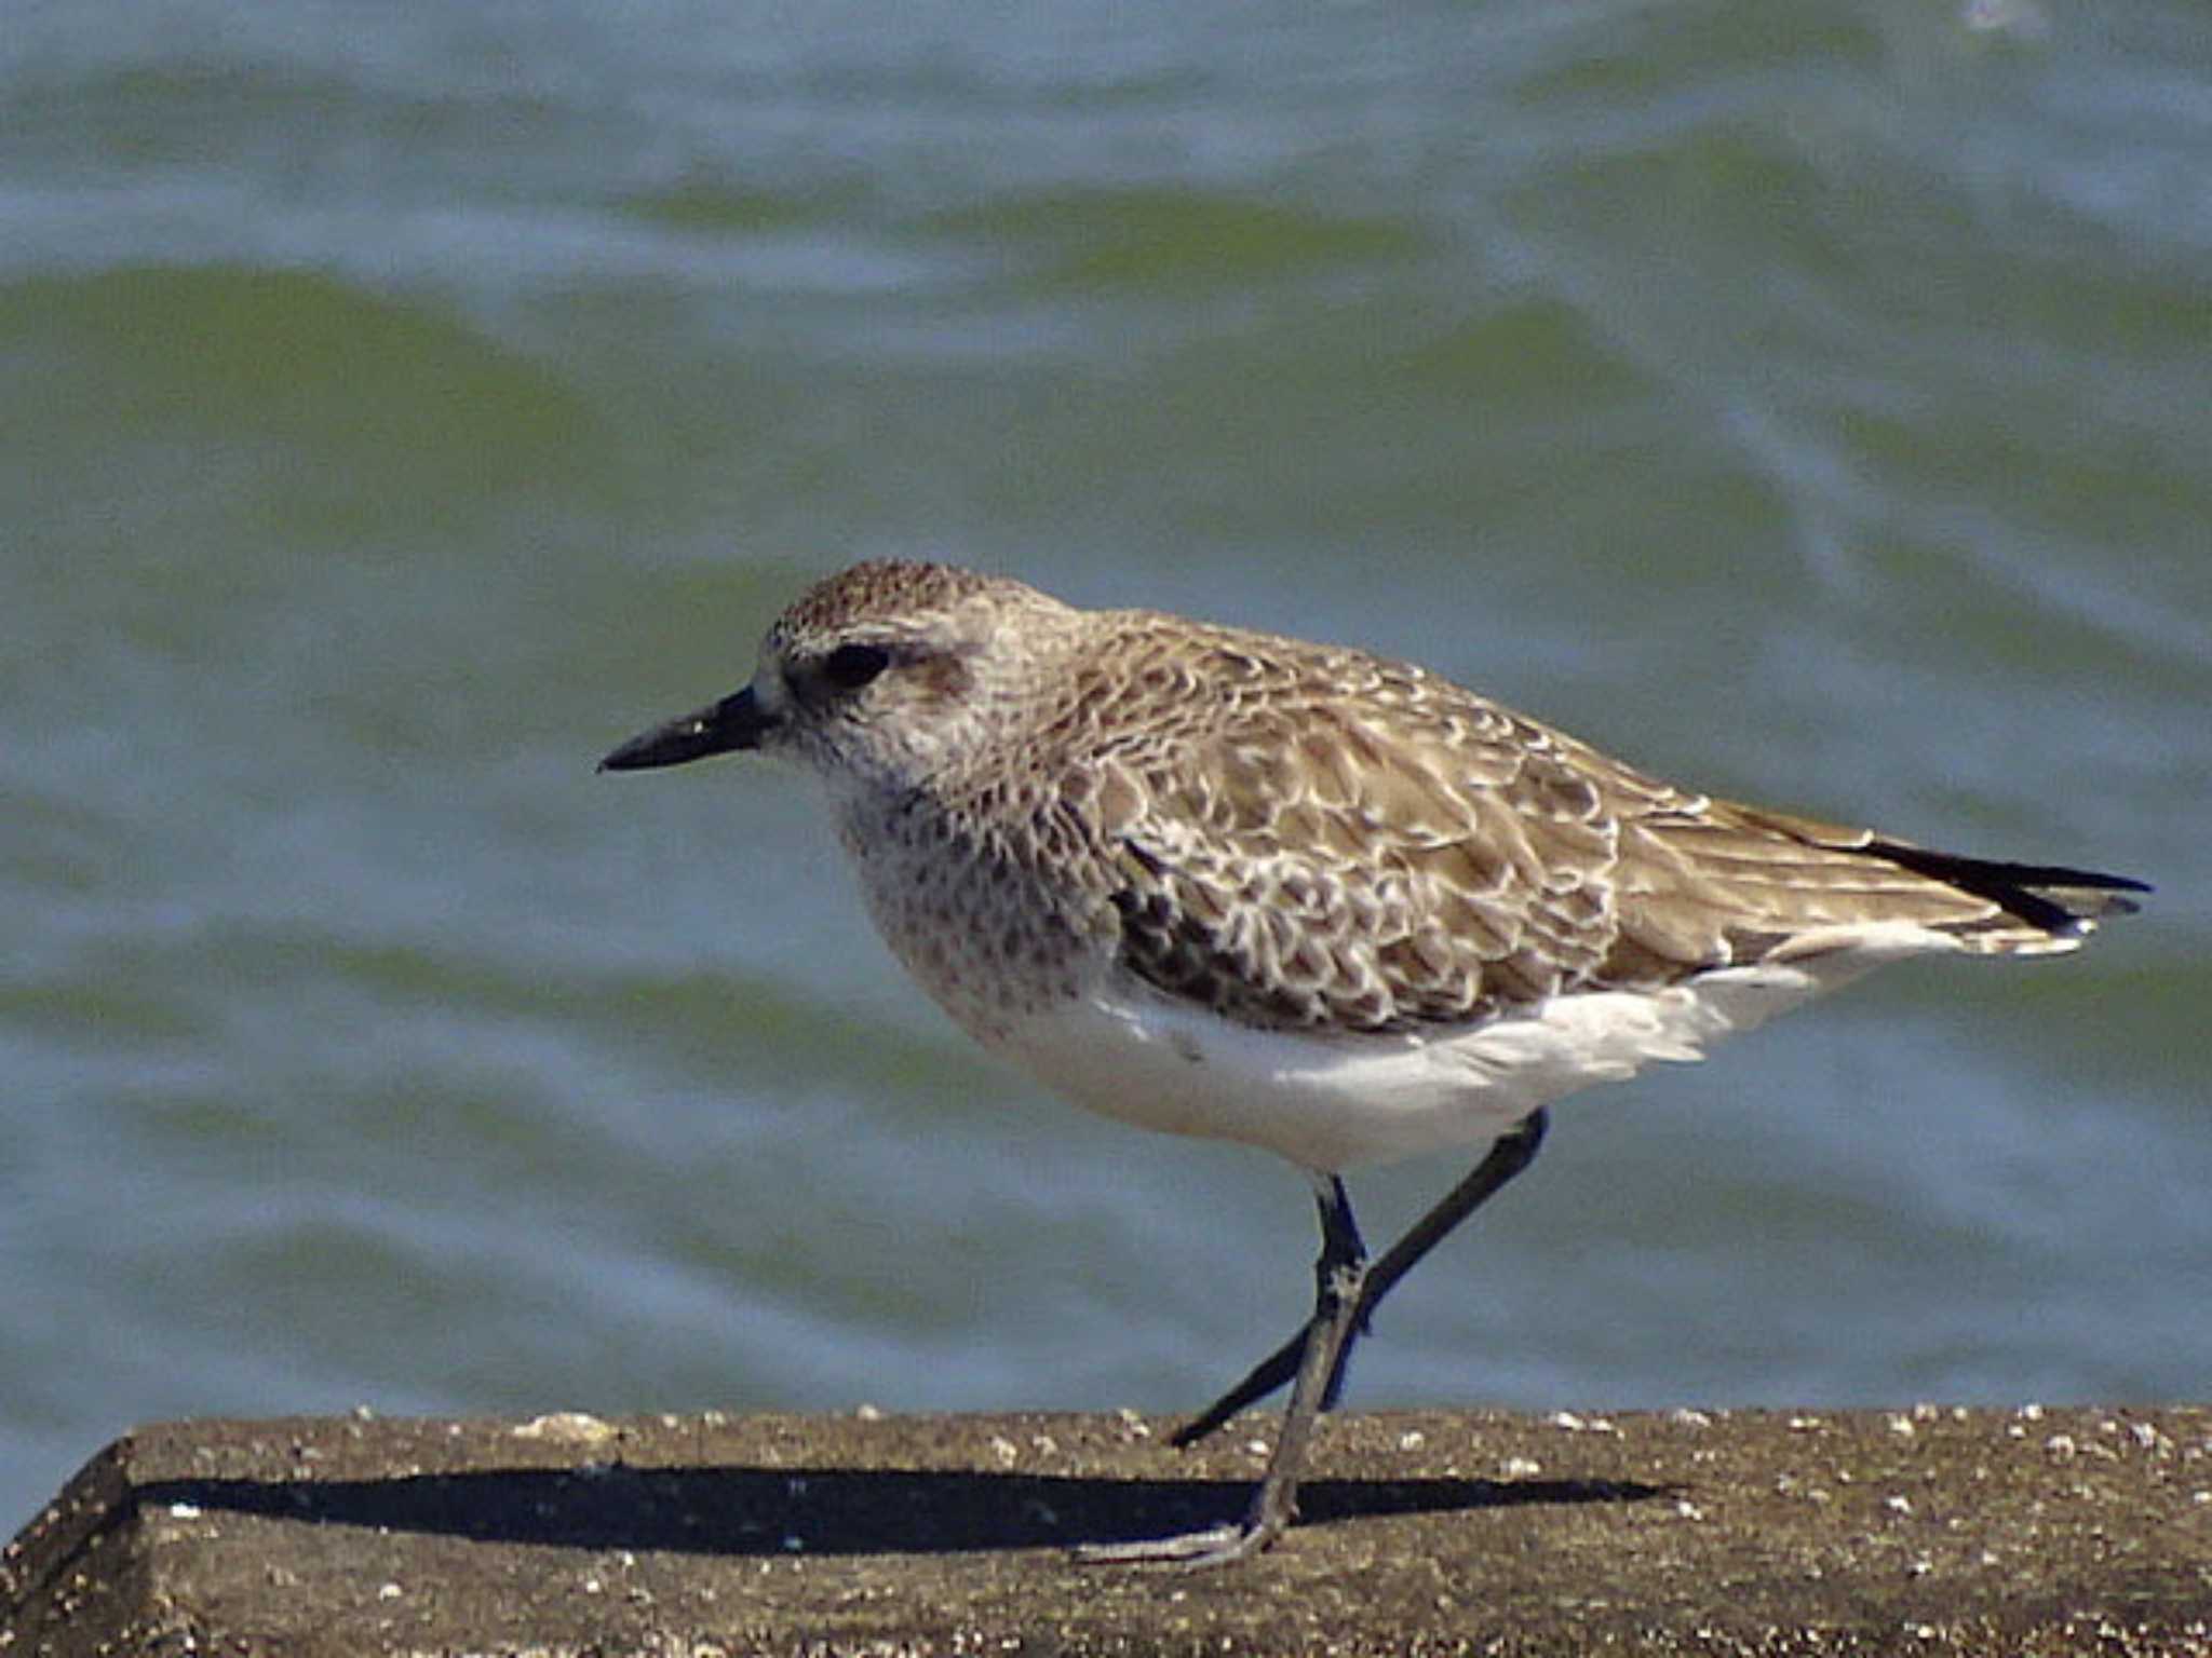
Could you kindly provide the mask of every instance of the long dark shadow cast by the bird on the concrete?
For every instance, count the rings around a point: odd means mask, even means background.
[[[692,1554],[953,1554],[1064,1547],[1194,1530],[1243,1512],[1250,1486],[785,1468],[491,1470],[396,1479],[164,1479],[142,1508],[272,1514],[502,1543]],[[1314,1479],[1303,1525],[1526,1503],[1637,1503],[1637,1481]]]

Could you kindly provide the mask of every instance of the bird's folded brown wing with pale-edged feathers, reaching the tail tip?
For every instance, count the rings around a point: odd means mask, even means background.
[[[2011,867],[1674,789],[1402,663],[1208,637],[1150,688],[1181,712],[1137,710],[1150,738],[1106,760],[1113,904],[1133,973],[1245,1024],[1467,1024],[1878,922],[2064,948],[2086,913],[1944,878]],[[1141,674],[1102,694],[1150,701]]]

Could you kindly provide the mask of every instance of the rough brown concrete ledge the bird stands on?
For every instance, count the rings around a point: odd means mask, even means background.
[[[0,1654],[2212,1654],[2212,1410],[288,1419],[115,1441],[0,1559]]]

